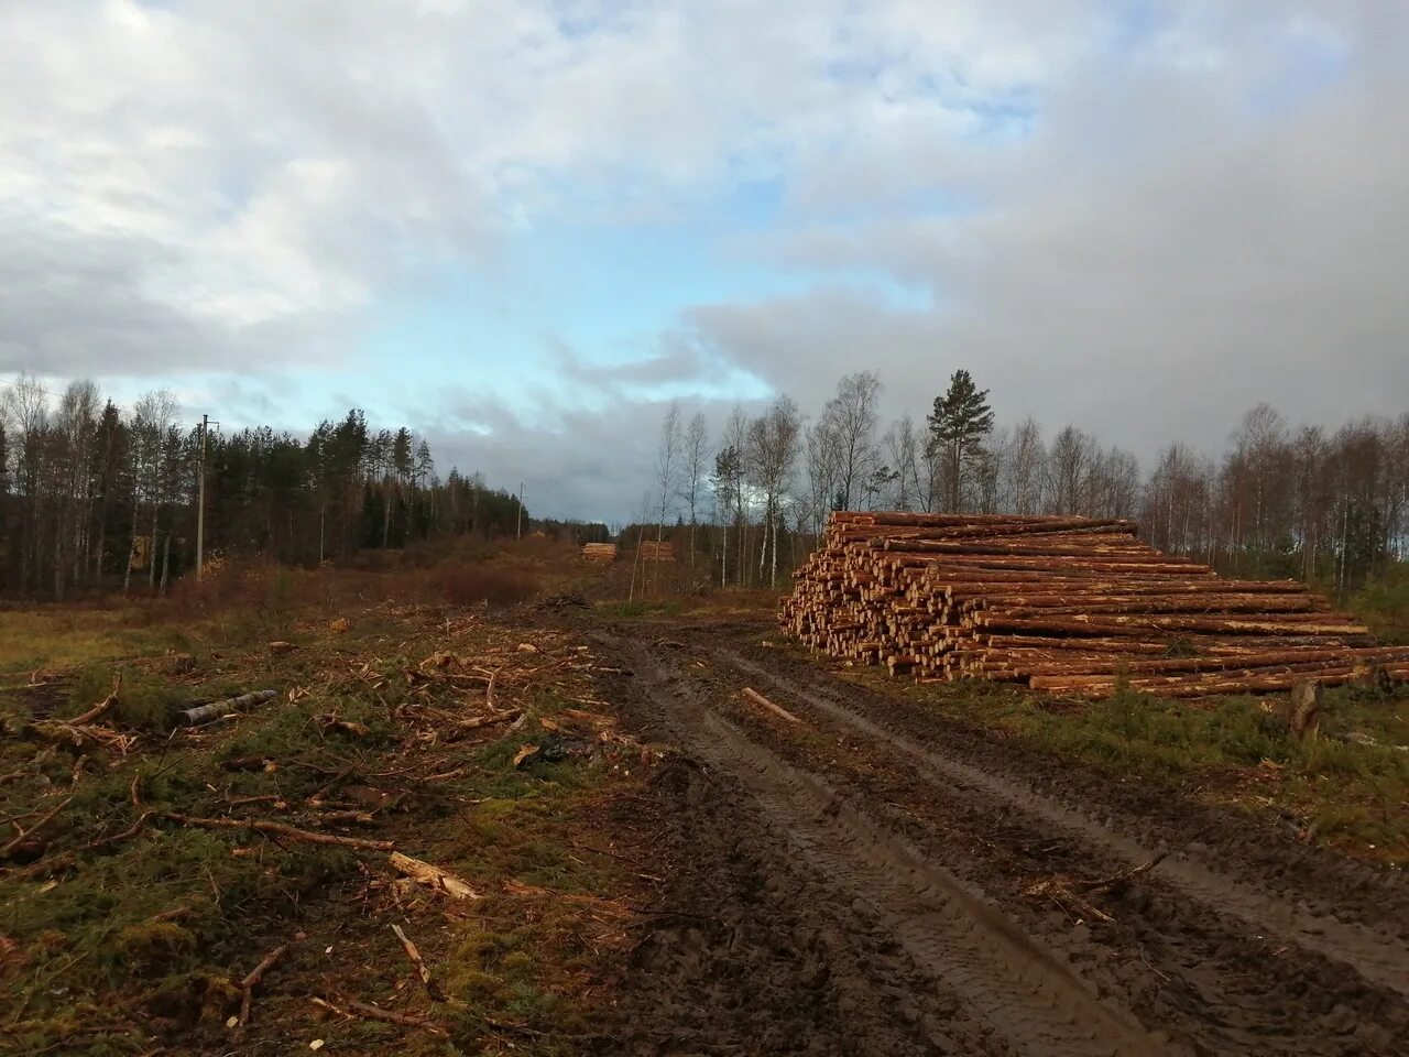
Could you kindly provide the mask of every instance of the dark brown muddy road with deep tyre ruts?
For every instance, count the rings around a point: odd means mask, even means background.
[[[759,644],[606,627],[669,882],[640,1054],[1409,1053],[1409,885]],[[750,686],[796,717],[747,699]]]

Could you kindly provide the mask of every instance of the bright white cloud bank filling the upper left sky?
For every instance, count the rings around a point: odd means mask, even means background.
[[[41,289],[61,314],[158,317],[134,372],[306,358],[299,334],[437,266],[492,269],[526,227],[688,210],[1036,75],[1041,37],[995,45],[983,4],[948,7],[7,4],[0,240],[62,256]],[[952,37],[943,90],[926,32]],[[108,355],[32,311],[0,348],[0,371]]]

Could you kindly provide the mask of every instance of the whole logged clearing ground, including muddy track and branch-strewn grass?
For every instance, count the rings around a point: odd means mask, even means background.
[[[0,1046],[1402,1051],[1402,698],[1337,692],[1327,731],[1385,744],[1309,758],[1255,702],[917,688],[764,600],[675,609],[380,605],[10,676]]]

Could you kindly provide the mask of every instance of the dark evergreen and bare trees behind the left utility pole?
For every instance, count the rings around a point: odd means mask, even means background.
[[[86,379],[51,395],[0,383],[0,591],[165,592],[196,561],[204,444],[204,550],[297,565],[368,548],[528,531],[519,497],[479,474],[435,472],[410,430],[372,428],[361,410],[307,437],[182,423],[175,397],[131,409]]]

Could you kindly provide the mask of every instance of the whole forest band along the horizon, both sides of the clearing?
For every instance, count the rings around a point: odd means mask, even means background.
[[[1409,557],[1409,413],[1293,427],[1253,407],[1222,454],[1186,443],[1148,468],[1130,451],[1031,417],[1000,423],[955,371],[923,419],[882,420],[882,379],[857,372],[805,414],[788,396],[735,406],[717,435],[672,403],[654,479],[621,543],[675,540],[690,579],[778,586],[833,510],[1129,517],[1153,545],[1243,576],[1295,576],[1340,596],[1402,578]],[[49,393],[0,386],[0,591],[163,592],[194,568],[201,444],[206,554],[347,564],[466,534],[528,531],[519,499],[480,474],[441,476],[410,428],[361,410],[306,437],[268,426],[204,431],[168,392],[130,410],[90,381]],[[606,526],[534,521],[573,541]]]

